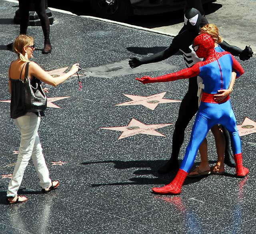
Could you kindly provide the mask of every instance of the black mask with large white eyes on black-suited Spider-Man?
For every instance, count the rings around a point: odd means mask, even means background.
[[[188,9],[184,14],[184,28],[199,33],[201,20],[202,16],[198,10],[196,10],[195,8]]]

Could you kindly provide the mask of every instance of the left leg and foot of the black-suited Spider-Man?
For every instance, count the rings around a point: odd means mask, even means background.
[[[184,142],[185,129],[198,110],[198,86],[197,77],[189,79],[188,92],[180,104],[178,119],[175,123],[172,137],[172,154],[170,160],[158,169],[159,173],[166,173],[170,170],[178,169],[178,156],[182,143]]]

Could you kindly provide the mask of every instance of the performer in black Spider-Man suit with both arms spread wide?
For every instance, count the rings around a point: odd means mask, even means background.
[[[188,8],[188,7],[196,7],[198,8]],[[168,46],[162,52],[154,54],[145,58],[131,58],[129,60],[129,65],[131,68],[136,68],[142,64],[148,64],[152,62],[160,62],[169,58],[170,56],[176,54],[180,50],[182,52],[184,61],[188,67],[191,67],[196,62],[201,61],[200,58],[196,56],[192,49],[192,43],[194,38],[200,32],[200,27],[208,24],[206,17],[203,15],[204,12],[202,10],[202,3],[200,0],[187,0],[187,10],[184,15],[184,26],[180,30],[177,36],[175,36],[172,40],[170,46]],[[199,12],[201,11],[201,13]],[[247,47],[242,50],[236,46],[230,46],[228,43],[223,41],[220,43],[220,46],[233,54],[234,56],[239,56],[241,60],[248,60],[252,56],[252,50],[250,47]],[[188,123],[192,119],[192,117],[196,114],[198,110],[198,84],[197,77],[194,76],[189,79],[188,92],[184,96],[178,113],[178,119],[175,123],[175,129],[172,138],[172,154],[170,160],[163,165],[158,172],[168,172],[172,169],[178,168],[178,154],[180,152],[180,147],[184,141],[184,132]],[[224,132],[224,136],[226,138],[226,148],[225,148],[225,163],[229,166],[234,167],[234,159],[232,158],[232,154],[229,150],[229,134],[225,128],[222,128]]]

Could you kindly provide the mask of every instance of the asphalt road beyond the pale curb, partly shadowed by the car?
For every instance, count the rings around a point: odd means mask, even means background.
[[[48,5],[77,15],[94,16],[86,3],[51,1]],[[208,21],[219,27],[224,40],[241,48],[251,45],[252,49],[256,50],[256,12],[253,9],[256,9],[256,0],[216,0],[204,5]],[[182,27],[183,19],[183,11],[180,10],[157,15],[133,16],[125,23],[176,35]]]

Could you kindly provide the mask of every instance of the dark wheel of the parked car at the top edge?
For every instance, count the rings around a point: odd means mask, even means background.
[[[126,19],[132,15],[130,0],[91,0],[92,11],[107,19]]]

